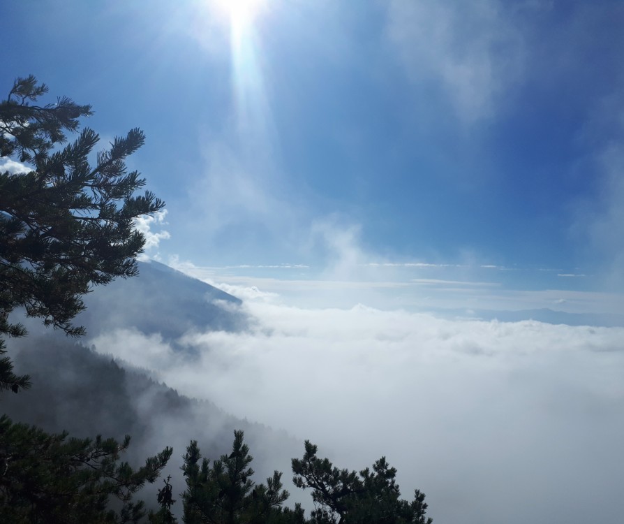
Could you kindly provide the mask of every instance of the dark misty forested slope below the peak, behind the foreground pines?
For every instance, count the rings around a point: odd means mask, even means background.
[[[33,387],[3,395],[4,413],[49,432],[67,430],[71,437],[131,435],[124,458],[134,465],[172,446],[164,476],[171,474],[178,493],[184,486],[181,456],[191,439],[198,440],[205,457],[214,459],[229,452],[235,429],[244,430],[260,480],[275,469],[288,474],[290,459],[303,449],[302,442],[283,431],[237,419],[208,400],[179,395],[58,333],[10,342],[15,367],[31,374]],[[154,489],[140,497],[155,500]]]

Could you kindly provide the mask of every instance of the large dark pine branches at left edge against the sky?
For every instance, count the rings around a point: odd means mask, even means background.
[[[82,296],[137,274],[135,257],[145,239],[134,222],[164,205],[150,191],[135,195],[145,180],[126,169],[126,157],[144,142],[140,129],[115,138],[91,166],[88,157],[99,140],[93,130],[83,129],[61,147],[65,132],[77,132],[91,107],[66,96],[37,105],[47,90],[32,75],[17,78],[0,102],[0,157],[24,166],[0,173],[0,356],[6,354],[2,337],[25,334],[9,321],[16,308],[82,335],[72,324],[84,309]],[[27,386],[29,377],[16,376],[9,358],[0,358],[0,391]]]

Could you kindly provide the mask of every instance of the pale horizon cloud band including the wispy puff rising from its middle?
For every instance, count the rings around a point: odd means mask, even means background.
[[[332,223],[330,223],[332,224]],[[350,308],[358,303],[381,310],[431,312],[442,310],[522,311],[556,309],[570,314],[619,314],[623,297],[613,292],[553,289],[510,289],[500,282],[473,279],[475,267],[454,264],[425,264],[407,267],[403,263],[369,263],[378,256],[367,254],[357,240],[357,228],[323,226],[311,249],[327,242],[327,268],[293,275],[258,268],[202,267],[181,262],[169,264],[187,275],[217,286],[245,300],[260,300],[299,307]],[[320,236],[319,236],[320,235]],[[327,245],[325,245],[327,249]],[[476,276],[479,266],[476,266]],[[431,275],[431,271],[435,274]],[[489,271],[486,269],[485,271]],[[542,269],[537,269],[542,271]],[[423,275],[418,277],[417,275]],[[431,275],[431,276],[429,276]]]

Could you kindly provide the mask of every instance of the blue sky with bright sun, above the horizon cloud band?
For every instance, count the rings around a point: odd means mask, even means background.
[[[621,1],[247,3],[1,8],[3,85],[91,103],[104,143],[146,132],[131,166],[169,234],[149,255],[261,283],[621,289]]]

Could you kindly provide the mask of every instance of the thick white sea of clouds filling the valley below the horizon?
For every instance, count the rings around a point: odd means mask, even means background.
[[[183,337],[192,362],[137,333],[96,346],[181,393],[310,438],[343,467],[387,456],[403,494],[422,488],[438,521],[581,522],[615,511],[624,329],[247,307],[258,319],[248,333]]]

